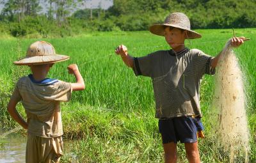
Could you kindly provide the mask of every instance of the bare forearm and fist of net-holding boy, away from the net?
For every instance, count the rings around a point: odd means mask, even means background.
[[[120,55],[125,65],[133,68],[133,57],[128,54],[127,47],[125,45],[119,45],[116,50],[116,54]]]

